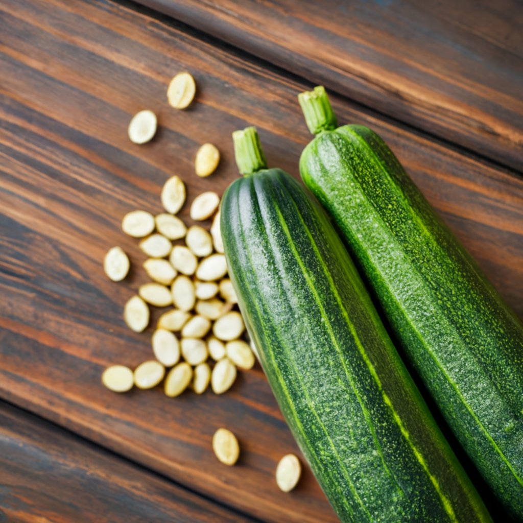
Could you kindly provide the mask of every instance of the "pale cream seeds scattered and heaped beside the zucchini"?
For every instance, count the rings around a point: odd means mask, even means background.
[[[189,73],[179,73],[169,84],[167,99],[172,107],[185,109],[195,93],[194,78]],[[156,115],[143,110],[131,119],[129,138],[143,144],[152,140],[156,129]],[[203,144],[196,153],[196,175],[210,176],[219,162],[217,147]],[[124,321],[134,332],[143,332],[150,323],[150,305],[169,307],[158,319],[151,338],[155,359],[140,363],[134,371],[113,365],[105,369],[101,380],[113,392],[127,392],[133,386],[151,389],[165,378],[164,391],[169,397],[180,395],[189,386],[196,394],[202,394],[209,383],[215,394],[223,394],[234,383],[238,368],[254,366],[255,356],[242,339],[242,315],[234,310],[237,299],[228,278],[220,234],[220,197],[206,191],[191,203],[192,220],[213,217],[209,230],[200,225],[187,228],[176,216],[186,202],[185,184],[178,176],[165,182],[161,201],[164,213],[153,216],[135,210],[122,220],[123,232],[141,239],[140,249],[147,256],[143,268],[152,280],[140,286],[138,294],[127,301]],[[185,240],[185,245],[173,245],[176,240]],[[123,249],[109,249],[104,258],[106,275],[112,281],[122,281],[129,269],[129,257]],[[226,465],[234,465],[240,455],[238,440],[225,428],[214,434],[212,448]],[[283,492],[289,492],[300,474],[300,461],[287,454],[278,464],[276,482]]]

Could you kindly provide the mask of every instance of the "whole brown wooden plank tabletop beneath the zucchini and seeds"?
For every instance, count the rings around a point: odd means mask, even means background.
[[[142,271],[116,285],[101,260],[120,245],[139,267],[121,218],[160,212],[169,176],[189,201],[221,194],[237,176],[235,129],[257,126],[270,165],[297,175],[310,136],[296,96],[323,83],[339,121],[382,135],[523,315],[523,12],[517,0],[142,4],[0,4],[0,521],[336,521],[308,468],[278,491],[277,461],[299,450],[259,367],[223,396],[101,386],[111,363],[151,357],[151,327],[134,334],[121,317]],[[184,70],[198,94],[176,111],[166,87]],[[143,108],[160,129],[137,146],[127,126]],[[222,161],[200,179],[207,141]],[[236,467],[211,451],[220,426],[240,439]]]

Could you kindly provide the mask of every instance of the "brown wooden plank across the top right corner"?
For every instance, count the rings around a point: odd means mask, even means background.
[[[523,170],[523,10],[517,0],[138,1]]]

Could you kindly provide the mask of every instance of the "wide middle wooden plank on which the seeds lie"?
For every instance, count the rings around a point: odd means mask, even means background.
[[[335,521],[310,470],[278,491],[274,470],[299,453],[261,370],[242,372],[223,396],[161,389],[116,395],[100,384],[111,363],[151,357],[149,328],[124,325],[123,303],[145,281],[144,256],[120,230],[135,208],[160,212],[172,174],[220,194],[237,176],[231,132],[255,124],[271,165],[297,174],[310,136],[296,95],[306,87],[201,33],[112,1],[4,0],[0,4],[0,396],[265,521]],[[188,70],[195,103],[176,111],[166,87]],[[340,122],[375,129],[523,314],[523,179],[332,96]],[[154,110],[150,144],[127,137],[131,116]],[[198,146],[222,152],[218,171],[193,173]],[[188,206],[181,217],[188,219]],[[134,269],[116,284],[101,260],[120,245]],[[154,322],[152,322],[154,324]],[[221,465],[215,429],[237,434],[242,457]],[[0,481],[1,482],[1,481]]]

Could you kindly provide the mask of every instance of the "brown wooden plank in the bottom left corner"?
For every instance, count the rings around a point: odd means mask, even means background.
[[[253,521],[5,402],[0,470],[0,521]]]

